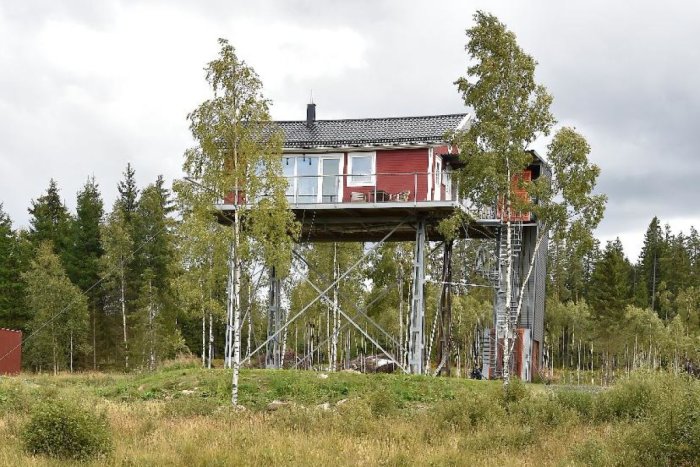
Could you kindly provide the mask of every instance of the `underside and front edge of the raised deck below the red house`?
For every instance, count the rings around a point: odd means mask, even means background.
[[[217,209],[222,222],[226,222],[235,206],[224,204]],[[455,201],[296,204],[291,209],[301,223],[302,242],[375,242],[395,228],[387,241],[414,241],[419,219],[425,219],[427,239],[440,241],[444,240],[438,231],[441,221],[456,211],[469,214]],[[457,237],[493,238],[499,224],[497,219],[465,221],[459,227]]]

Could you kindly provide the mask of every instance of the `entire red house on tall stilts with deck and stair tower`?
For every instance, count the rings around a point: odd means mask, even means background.
[[[492,206],[478,206],[461,199],[452,177],[460,162],[457,148],[450,146],[447,135],[467,128],[469,116],[317,120],[316,106],[309,104],[306,117],[300,121],[275,122],[285,136],[283,171],[288,180],[287,199],[302,225],[302,241],[415,241],[406,370],[424,372],[424,244],[444,240],[437,227],[456,210],[468,213],[473,219],[462,225],[458,237],[490,238],[496,242],[498,261],[493,262],[491,271],[497,291],[494,322],[497,325],[502,322],[503,317],[496,310],[507,300],[503,215],[496,208],[496,200]],[[520,176],[535,179],[547,170],[546,164],[533,153],[531,166]],[[235,206],[224,204],[220,209],[227,211]],[[524,277],[524,268],[534,254],[538,226],[529,213],[512,219],[516,221],[513,233],[517,282]],[[449,274],[446,277],[451,277],[452,243],[444,243],[445,270]],[[546,244],[542,248],[546,251]],[[519,338],[513,369],[526,380],[540,366],[542,358],[545,256],[539,255],[517,323]],[[451,284],[444,282],[441,321],[445,328],[441,336],[449,336]],[[514,294],[518,288],[514,287]],[[517,296],[510,301],[515,300]],[[279,306],[279,300],[277,303]],[[271,317],[270,323],[273,322],[280,320]],[[274,328],[271,324],[270,332]],[[495,332],[486,332],[483,344],[484,375],[497,377],[502,339]],[[280,350],[272,352],[280,353]],[[449,368],[449,337],[439,345],[439,353],[445,356]]]

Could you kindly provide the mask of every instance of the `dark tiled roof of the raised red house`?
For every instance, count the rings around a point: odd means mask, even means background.
[[[420,144],[443,142],[466,115],[316,120],[311,126],[306,121],[275,123],[284,131],[286,148]]]

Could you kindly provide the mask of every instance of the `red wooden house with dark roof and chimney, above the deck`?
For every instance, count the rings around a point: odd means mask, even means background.
[[[285,134],[284,174],[292,206],[450,201],[456,151],[445,136],[466,114],[276,122]]]

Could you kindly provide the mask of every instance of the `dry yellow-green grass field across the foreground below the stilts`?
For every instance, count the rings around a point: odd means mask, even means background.
[[[700,384],[641,374],[611,389],[173,363],[155,373],[0,378],[0,464],[26,452],[48,402],[105,414],[111,451],[87,465],[697,465]]]

